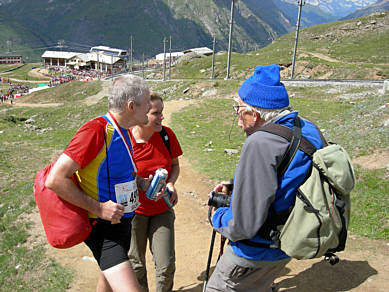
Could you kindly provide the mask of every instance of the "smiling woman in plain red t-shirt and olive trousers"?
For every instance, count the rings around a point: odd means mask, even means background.
[[[169,201],[174,206],[178,200],[174,184],[180,172],[178,156],[182,154],[182,150],[176,135],[168,127],[164,129],[168,135],[169,149],[162,140],[162,98],[152,92],[150,101],[148,123],[131,129],[135,163],[141,177],[154,175],[158,168],[168,171],[166,187],[171,193]],[[139,202],[141,204],[135,210],[132,220],[129,252],[131,265],[141,288],[148,291],[145,254],[149,240],[155,263],[156,291],[172,291],[175,272],[174,210],[164,200],[155,202],[148,199],[140,190]]]

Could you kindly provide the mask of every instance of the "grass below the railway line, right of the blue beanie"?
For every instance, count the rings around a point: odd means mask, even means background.
[[[383,126],[389,112],[383,107],[387,95],[376,95],[366,89],[348,89],[342,95],[364,93],[366,97],[342,100],[339,93],[329,93],[330,90],[328,87],[291,88],[289,93],[295,96],[292,105],[303,116],[317,122],[327,139],[343,145],[350,155],[366,155],[389,146],[389,130]]]

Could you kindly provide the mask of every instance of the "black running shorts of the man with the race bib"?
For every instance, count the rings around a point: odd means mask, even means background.
[[[131,220],[122,218],[112,224],[103,219],[90,219],[92,231],[85,240],[102,271],[128,261],[131,242]]]

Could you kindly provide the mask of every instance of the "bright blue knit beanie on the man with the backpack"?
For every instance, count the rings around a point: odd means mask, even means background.
[[[280,82],[280,66],[257,66],[254,74],[238,90],[244,103],[264,109],[280,109],[289,105],[288,92]]]

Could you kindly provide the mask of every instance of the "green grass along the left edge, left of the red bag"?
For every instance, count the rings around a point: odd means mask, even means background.
[[[20,116],[19,110],[10,114]],[[61,291],[59,286],[64,290],[70,283],[70,272],[45,257],[43,244],[28,241],[31,223],[26,217],[35,208],[34,172],[52,151],[40,147],[42,136],[24,131],[21,121],[7,117],[0,116],[0,172],[5,175],[0,179],[0,290]]]

